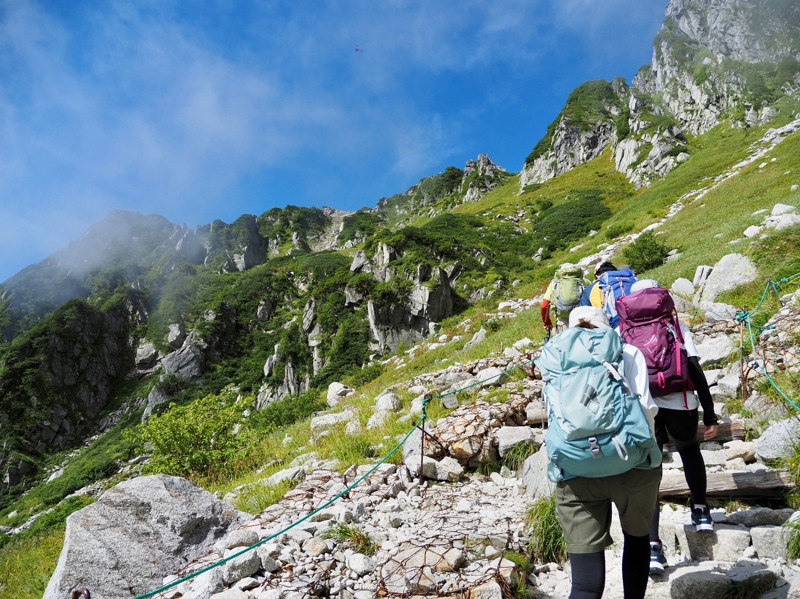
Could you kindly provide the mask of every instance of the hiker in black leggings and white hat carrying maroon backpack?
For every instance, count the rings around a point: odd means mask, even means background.
[[[620,335],[645,355],[650,393],[658,406],[656,440],[663,449],[672,437],[683,462],[692,496],[692,524],[698,532],[714,530],[706,505],[706,466],[697,440],[698,404],[703,406],[703,439],[717,434],[717,416],[699,353],[689,328],[683,324],[666,289],[653,279],[638,281],[632,294],[617,303]],[[699,396],[699,402],[698,402]],[[650,571],[664,571],[666,558],[658,536],[660,509],[656,502],[650,527]]]

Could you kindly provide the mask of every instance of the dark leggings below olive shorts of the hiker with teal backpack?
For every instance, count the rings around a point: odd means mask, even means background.
[[[650,573],[648,537],[622,534],[622,589],[625,599],[644,599]],[[570,553],[569,562],[572,566],[572,592],[569,599],[600,599],[606,586],[605,553]]]

